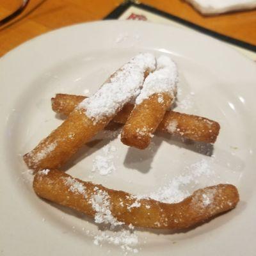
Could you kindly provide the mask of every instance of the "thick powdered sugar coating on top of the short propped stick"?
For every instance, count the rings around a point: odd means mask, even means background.
[[[157,70],[146,77],[141,89],[140,95],[136,98],[136,104],[141,104],[155,93],[169,93],[175,97],[178,72],[175,63],[167,56],[161,56],[157,59]],[[158,98],[159,102],[163,98]]]

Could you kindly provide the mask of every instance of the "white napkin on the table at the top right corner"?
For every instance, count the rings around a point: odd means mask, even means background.
[[[203,14],[219,14],[256,8],[256,0],[186,0]]]

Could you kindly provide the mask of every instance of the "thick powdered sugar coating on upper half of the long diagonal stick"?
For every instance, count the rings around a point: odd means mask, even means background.
[[[86,115],[98,122],[115,115],[125,103],[136,97],[144,81],[144,73],[156,68],[152,54],[138,54],[115,72],[90,98],[84,99],[78,108],[86,109]]]

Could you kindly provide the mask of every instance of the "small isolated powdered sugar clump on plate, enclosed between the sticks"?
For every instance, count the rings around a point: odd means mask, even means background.
[[[116,152],[116,148],[114,146],[106,145],[103,148],[103,156],[95,156],[95,159],[93,159],[92,172],[99,172],[100,175],[109,175],[115,171],[113,152]]]

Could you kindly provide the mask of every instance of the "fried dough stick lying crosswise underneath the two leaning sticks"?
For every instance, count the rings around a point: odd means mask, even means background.
[[[56,113],[69,115],[77,104],[86,97],[81,95],[56,94],[52,98],[52,110]],[[113,118],[113,122],[125,124],[131,114],[133,104],[127,103]],[[166,111],[157,131],[177,134],[189,140],[214,143],[220,131],[220,124],[201,116],[188,115],[175,111]]]

